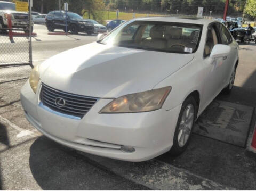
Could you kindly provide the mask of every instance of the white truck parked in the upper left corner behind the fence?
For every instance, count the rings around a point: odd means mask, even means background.
[[[8,28],[8,14],[11,15],[13,29],[23,29],[24,32],[29,32],[28,13],[16,11],[15,3],[0,1],[0,33],[7,32],[4,28]],[[33,24],[31,26],[32,31]]]

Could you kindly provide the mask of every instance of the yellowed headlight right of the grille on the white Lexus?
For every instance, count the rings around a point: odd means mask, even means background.
[[[164,87],[146,92],[118,97],[107,104],[99,113],[135,113],[160,109],[171,87]]]

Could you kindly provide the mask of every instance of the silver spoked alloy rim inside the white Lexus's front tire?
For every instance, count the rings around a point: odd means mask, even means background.
[[[183,111],[179,124],[178,144],[180,147],[183,147],[188,142],[194,123],[194,114],[194,106],[192,104],[188,104],[186,109]]]

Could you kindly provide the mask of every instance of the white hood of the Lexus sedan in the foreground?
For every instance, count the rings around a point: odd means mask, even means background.
[[[42,82],[55,89],[114,98],[153,89],[193,57],[95,42],[51,57],[40,65],[39,73]]]

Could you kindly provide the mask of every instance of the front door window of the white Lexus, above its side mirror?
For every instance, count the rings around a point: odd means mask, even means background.
[[[207,57],[211,54],[214,45],[218,44],[218,37],[215,29],[211,26],[208,28],[206,44],[204,47],[204,56]]]

